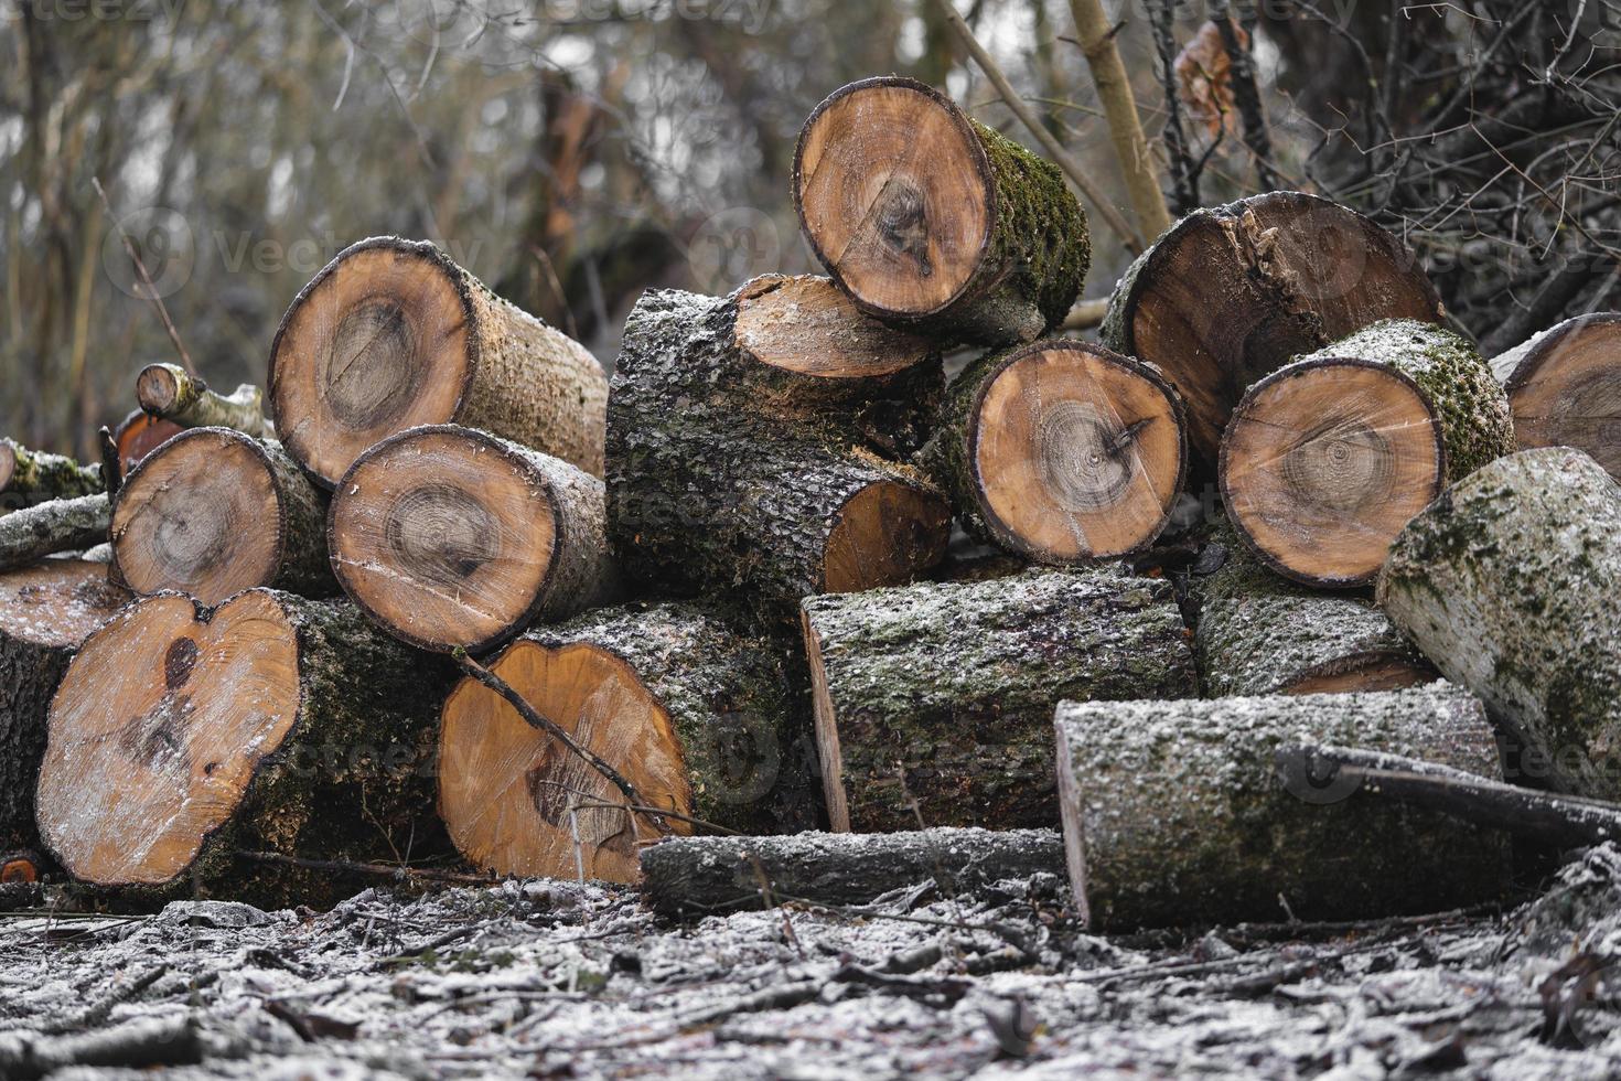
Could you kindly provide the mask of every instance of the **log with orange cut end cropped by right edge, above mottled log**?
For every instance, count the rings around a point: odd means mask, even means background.
[[[1577,316],[1491,361],[1520,449],[1576,447],[1621,480],[1621,311]]]

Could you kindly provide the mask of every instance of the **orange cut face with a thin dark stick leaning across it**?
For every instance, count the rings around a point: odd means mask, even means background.
[[[648,805],[692,814],[669,713],[624,660],[595,645],[520,639],[490,669]],[[439,814],[456,848],[499,875],[574,878],[584,870],[587,878],[635,882],[637,841],[657,833],[648,818],[622,809],[613,781],[472,677],[444,703],[438,776]],[[691,833],[682,822],[668,825]]]

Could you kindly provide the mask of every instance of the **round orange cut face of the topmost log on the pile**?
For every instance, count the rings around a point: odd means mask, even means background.
[[[961,109],[906,78],[817,105],[794,154],[799,222],[828,272],[879,314],[922,318],[973,285],[995,227],[984,144]]]

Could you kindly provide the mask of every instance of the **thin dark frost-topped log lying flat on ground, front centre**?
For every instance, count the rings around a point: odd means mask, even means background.
[[[642,896],[663,916],[783,901],[867,904],[929,880],[955,896],[1039,874],[1063,874],[1057,830],[682,836],[642,849]]]

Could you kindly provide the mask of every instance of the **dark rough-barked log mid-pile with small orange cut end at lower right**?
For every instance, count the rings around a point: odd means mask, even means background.
[[[626,323],[606,476],[621,567],[660,588],[742,585],[785,608],[809,593],[905,582],[939,562],[950,532],[943,496],[874,452],[874,415],[859,407],[893,384],[856,376],[854,397],[828,405],[827,376],[762,371],[768,365],[738,347],[742,298],[647,293]],[[937,361],[919,363],[939,378]],[[762,379],[783,391],[763,391]]]

